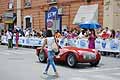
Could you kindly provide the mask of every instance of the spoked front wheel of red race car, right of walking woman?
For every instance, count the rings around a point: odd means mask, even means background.
[[[73,53],[68,54],[66,62],[69,67],[75,67],[77,64],[76,56]]]

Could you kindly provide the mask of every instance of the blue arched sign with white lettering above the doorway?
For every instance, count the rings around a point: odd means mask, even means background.
[[[47,14],[47,19],[58,18],[58,9],[56,7],[51,7]]]

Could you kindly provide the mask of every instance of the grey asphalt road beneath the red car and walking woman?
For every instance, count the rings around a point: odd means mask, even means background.
[[[0,45],[0,80],[120,80],[120,58],[102,56],[97,67],[57,64],[59,78],[54,76],[52,67],[48,75],[42,74],[45,67],[45,63],[38,62],[34,49]]]

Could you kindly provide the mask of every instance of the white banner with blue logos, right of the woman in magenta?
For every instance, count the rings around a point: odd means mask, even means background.
[[[100,51],[120,52],[120,40],[118,39],[96,39],[95,48]]]

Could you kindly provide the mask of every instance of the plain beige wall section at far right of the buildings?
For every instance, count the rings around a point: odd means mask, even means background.
[[[104,0],[103,26],[120,29],[120,0]]]

